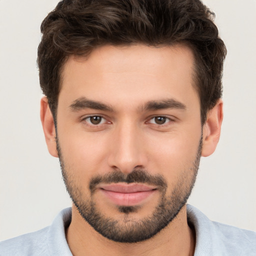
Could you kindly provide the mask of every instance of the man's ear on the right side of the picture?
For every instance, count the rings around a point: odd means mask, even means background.
[[[216,105],[207,113],[206,122],[203,125],[202,156],[209,156],[217,146],[220,128],[223,119],[223,101],[219,99]]]

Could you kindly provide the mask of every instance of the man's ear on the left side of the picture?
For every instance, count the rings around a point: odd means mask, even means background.
[[[40,118],[48,151],[52,156],[58,157],[55,125],[46,97],[41,98]]]

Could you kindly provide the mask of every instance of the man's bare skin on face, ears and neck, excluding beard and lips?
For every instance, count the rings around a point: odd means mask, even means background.
[[[160,174],[171,193],[180,177],[189,182],[191,165],[202,136],[202,156],[217,145],[222,122],[222,101],[208,111],[203,127],[200,104],[192,80],[193,54],[184,45],[148,47],[106,45],[87,58],[70,56],[63,66],[57,107],[57,134],[67,171],[89,198],[88,182],[95,174],[113,170],[124,174],[139,166]],[[81,107],[72,110],[81,97],[111,106],[111,111]],[[145,109],[150,100],[174,99],[184,108]],[[113,110],[113,111],[112,111]],[[41,99],[41,121],[48,150],[58,157],[55,127],[47,99]],[[102,116],[99,125],[86,117]],[[163,125],[155,116],[166,116]],[[72,171],[72,172],[71,172]],[[139,220],[150,216],[159,201],[156,191],[129,215]],[[100,191],[94,195],[97,208],[106,216],[123,220],[112,202]],[[72,220],[66,238],[73,255],[193,255],[195,235],[187,224],[186,206],[164,229],[137,243],[120,243],[97,233],[72,205]]]

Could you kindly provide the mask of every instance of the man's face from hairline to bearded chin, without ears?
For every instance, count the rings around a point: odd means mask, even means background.
[[[108,45],[65,63],[58,156],[75,207],[103,236],[147,239],[186,203],[202,141],[192,67],[181,45]]]

